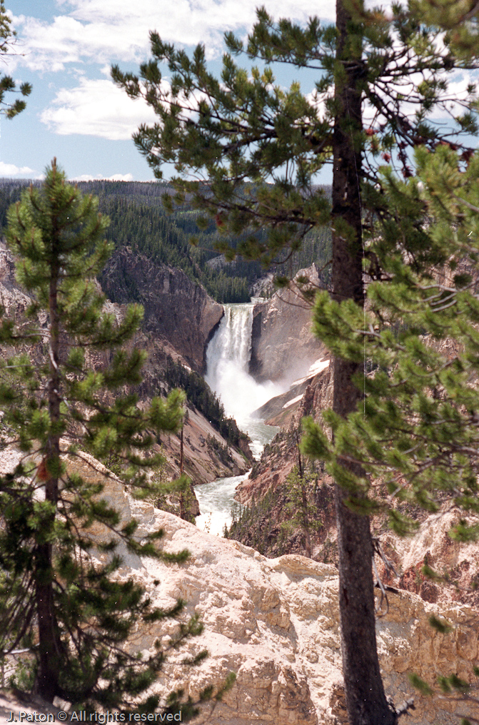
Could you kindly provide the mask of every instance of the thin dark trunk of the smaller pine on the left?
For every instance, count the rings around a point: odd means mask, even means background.
[[[49,290],[49,357],[48,384],[49,418],[52,426],[60,421],[60,320],[58,315],[57,250],[52,249],[51,281]],[[41,473],[45,480],[45,500],[52,510],[44,518],[45,531],[52,531],[57,513],[58,466],[60,465],[60,435],[50,433],[44,449]],[[62,642],[54,609],[52,544],[38,545],[36,555],[36,608],[38,616],[38,674],[36,692],[52,702],[60,689],[60,662]]]

